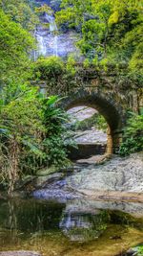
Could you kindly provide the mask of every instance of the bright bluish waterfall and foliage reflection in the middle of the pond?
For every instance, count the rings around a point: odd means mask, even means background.
[[[90,241],[98,238],[107,228],[109,215],[106,211],[97,214],[68,212],[63,214],[60,227],[71,241]]]

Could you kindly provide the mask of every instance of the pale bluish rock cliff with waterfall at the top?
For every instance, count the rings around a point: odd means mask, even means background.
[[[51,7],[53,12],[43,13],[41,15],[42,25],[37,26],[34,33],[38,49],[34,52],[34,59],[39,56],[49,57],[56,56],[61,58],[67,58],[68,55],[79,55],[78,50],[75,47],[77,41],[77,35],[72,31],[65,31],[61,28],[57,28],[54,12],[60,9],[60,0],[41,0],[35,1],[38,6],[47,4]]]

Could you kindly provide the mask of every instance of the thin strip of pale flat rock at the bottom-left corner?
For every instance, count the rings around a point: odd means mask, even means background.
[[[0,251],[0,256],[41,256],[39,252],[34,251]]]

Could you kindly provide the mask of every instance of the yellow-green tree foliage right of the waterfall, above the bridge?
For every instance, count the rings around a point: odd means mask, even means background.
[[[77,46],[86,58],[96,58],[96,63],[126,63],[128,72],[141,76],[143,19],[139,2],[63,0],[56,20],[80,30]]]

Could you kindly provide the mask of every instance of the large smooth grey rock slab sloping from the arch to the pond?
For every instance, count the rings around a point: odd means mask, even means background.
[[[32,196],[143,202],[143,154],[134,153],[124,158],[113,156],[100,164],[76,164],[65,175],[38,176],[34,180]]]

